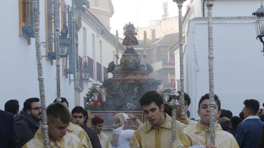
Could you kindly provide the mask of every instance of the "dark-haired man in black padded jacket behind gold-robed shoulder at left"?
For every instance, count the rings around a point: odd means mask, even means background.
[[[81,126],[88,137],[90,138],[93,148],[101,148],[100,140],[95,129],[92,129],[84,124],[84,121],[88,119],[88,113],[81,107],[76,106],[72,109],[72,123]],[[87,118],[86,118],[87,117]]]

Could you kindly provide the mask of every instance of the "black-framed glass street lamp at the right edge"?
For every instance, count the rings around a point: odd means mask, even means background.
[[[253,12],[252,15],[257,16],[257,19],[255,21],[255,28],[257,33],[256,39],[259,38],[260,42],[262,42],[263,44],[262,52],[264,52],[264,42],[262,39],[262,37],[264,36],[264,7],[262,5],[262,1],[261,1],[261,7],[259,7],[259,9],[256,10],[256,12]]]

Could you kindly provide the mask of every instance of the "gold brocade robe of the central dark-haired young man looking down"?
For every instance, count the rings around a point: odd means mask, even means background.
[[[131,148],[171,148],[172,118],[166,115],[164,123],[159,127],[149,121],[140,125],[130,139]],[[176,139],[187,125],[176,120]]]

